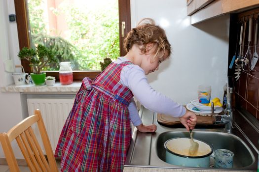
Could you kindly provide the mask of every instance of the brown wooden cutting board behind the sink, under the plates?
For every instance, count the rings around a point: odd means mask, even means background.
[[[173,117],[170,115],[157,114],[157,121],[165,125],[177,125],[181,124],[178,117]],[[197,115],[197,124],[202,125],[212,125],[215,122],[214,116],[200,116]]]

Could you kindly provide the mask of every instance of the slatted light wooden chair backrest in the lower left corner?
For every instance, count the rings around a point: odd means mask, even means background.
[[[35,123],[37,123],[47,159],[44,156],[31,127]],[[25,118],[12,127],[7,133],[0,133],[0,142],[2,144],[2,149],[10,172],[19,172],[18,163],[11,147],[11,142],[13,140],[16,140],[18,143],[32,172],[58,172],[58,167],[49,142],[47,131],[38,109],[35,111],[35,115]]]

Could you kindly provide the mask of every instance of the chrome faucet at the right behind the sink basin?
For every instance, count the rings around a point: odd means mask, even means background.
[[[233,108],[233,96],[234,96],[234,82],[232,77],[228,77],[227,93],[226,93],[226,108],[224,109],[224,115],[215,116],[215,125],[225,125],[225,131],[230,133],[234,128],[234,108]],[[214,116],[214,103],[211,103],[212,115]]]

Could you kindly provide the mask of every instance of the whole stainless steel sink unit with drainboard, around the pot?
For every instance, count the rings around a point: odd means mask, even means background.
[[[175,137],[189,137],[185,128],[173,128],[163,126],[157,122],[156,113],[141,108],[140,115],[144,124],[156,124],[155,133],[141,133],[134,129],[133,139],[127,154],[125,166],[131,167],[155,167],[178,169],[207,169],[175,166],[165,162],[165,141]],[[234,152],[234,163],[228,171],[256,171],[258,150],[235,124],[231,133],[226,133],[223,128],[195,128],[193,137],[208,144],[214,149],[224,148]]]

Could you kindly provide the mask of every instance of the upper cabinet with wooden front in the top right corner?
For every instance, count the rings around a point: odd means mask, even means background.
[[[259,0],[186,0],[191,24],[228,13],[239,13],[259,7]]]

